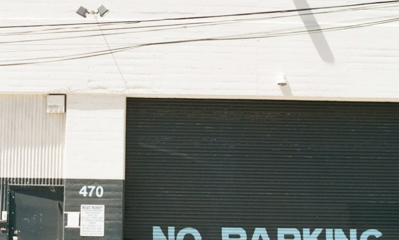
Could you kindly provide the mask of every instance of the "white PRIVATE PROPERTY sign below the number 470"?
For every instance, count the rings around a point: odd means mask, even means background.
[[[104,223],[104,205],[80,205],[80,236],[104,236]]]

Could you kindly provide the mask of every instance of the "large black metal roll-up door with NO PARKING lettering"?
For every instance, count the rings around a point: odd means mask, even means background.
[[[124,238],[199,239],[186,228],[203,240],[265,240],[264,231],[252,238],[264,228],[270,240],[298,232],[306,240],[307,229],[320,231],[310,240],[396,240],[398,110],[397,103],[127,99]]]

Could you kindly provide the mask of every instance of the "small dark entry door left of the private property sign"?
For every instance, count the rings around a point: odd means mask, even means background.
[[[63,188],[13,187],[10,190],[10,240],[62,239]]]

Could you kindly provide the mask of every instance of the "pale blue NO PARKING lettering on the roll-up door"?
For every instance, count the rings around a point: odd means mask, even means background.
[[[324,231],[325,238],[319,238]],[[358,232],[357,229],[350,229],[349,234],[345,234],[343,229],[309,229],[303,228],[300,231],[297,228],[278,228],[277,236],[269,236],[266,228],[255,228],[252,236],[247,235],[243,228],[221,228],[221,240],[374,240],[383,234],[376,229],[368,229],[364,232]],[[195,228],[184,228],[175,235],[174,227],[168,227],[166,234],[161,227],[152,227],[152,240],[184,240],[186,235],[191,235],[195,240],[202,240],[201,233]],[[360,238],[358,238],[360,236]]]

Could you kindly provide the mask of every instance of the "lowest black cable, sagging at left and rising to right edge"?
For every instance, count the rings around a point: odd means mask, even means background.
[[[131,50],[131,49],[136,49],[138,47],[144,47],[144,46],[150,46],[150,45],[176,44],[176,43],[187,43],[187,42],[197,42],[197,41],[220,41],[220,40],[243,40],[243,39],[271,38],[271,37],[300,35],[300,34],[322,32],[322,31],[323,32],[328,32],[328,31],[339,31],[339,30],[346,30],[346,29],[362,28],[362,27],[379,25],[379,24],[382,24],[382,23],[388,23],[388,22],[394,22],[394,21],[399,21],[399,17],[391,18],[391,19],[387,19],[387,20],[381,20],[381,21],[360,23],[360,24],[352,25],[352,26],[333,27],[333,28],[316,29],[316,30],[304,30],[304,31],[296,31],[296,32],[289,32],[289,33],[280,33],[280,34],[275,34],[275,35],[251,36],[253,34],[249,34],[249,37],[216,37],[216,38],[202,38],[202,39],[190,39],[190,40],[176,40],[176,41],[166,41],[166,42],[145,43],[145,44],[140,44],[140,45],[135,45],[135,46],[130,46],[130,47],[121,47],[119,49],[113,49],[112,52],[109,51],[109,50],[106,50],[106,51],[98,51],[98,52],[89,53],[90,55],[80,56],[80,57],[49,60],[49,61],[0,64],[0,66],[16,66],[16,65],[27,65],[27,64],[49,63],[49,62],[58,62],[58,61],[66,61],[66,60],[83,59],[83,58],[90,58],[90,57],[95,57],[95,56],[107,55],[107,54],[111,54],[111,53],[123,52],[123,51]],[[15,61],[18,61],[18,60],[15,60]]]

